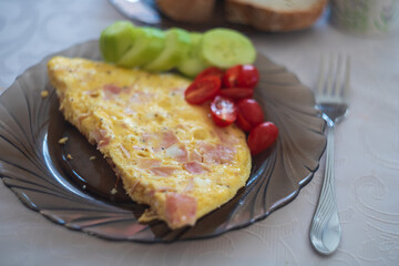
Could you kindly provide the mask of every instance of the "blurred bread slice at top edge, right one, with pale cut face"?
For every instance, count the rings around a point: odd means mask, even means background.
[[[226,0],[227,20],[264,31],[295,31],[310,27],[327,0]]]

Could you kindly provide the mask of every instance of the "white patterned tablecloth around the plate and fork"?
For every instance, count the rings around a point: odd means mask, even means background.
[[[124,19],[108,1],[0,2],[0,93],[50,53],[96,39]],[[262,33],[258,51],[315,88],[321,53],[351,57],[350,114],[336,130],[336,192],[342,238],[331,256],[311,247],[324,160],[314,180],[265,221],[205,241],[108,242],[55,225],[0,182],[1,265],[399,265],[399,34],[359,37],[328,23]]]

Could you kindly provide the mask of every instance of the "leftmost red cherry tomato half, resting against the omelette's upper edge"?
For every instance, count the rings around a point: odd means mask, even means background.
[[[185,100],[191,104],[202,104],[214,96],[221,90],[221,79],[214,75],[194,81],[184,92]]]

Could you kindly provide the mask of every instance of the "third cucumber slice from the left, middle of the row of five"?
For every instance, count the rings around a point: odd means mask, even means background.
[[[176,28],[167,30],[164,50],[155,60],[144,65],[144,69],[161,72],[175,68],[186,57],[190,44],[187,31]]]

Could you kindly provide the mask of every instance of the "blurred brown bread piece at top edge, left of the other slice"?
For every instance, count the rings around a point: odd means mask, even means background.
[[[180,22],[206,22],[215,9],[215,0],[156,0],[157,8],[166,17]]]

